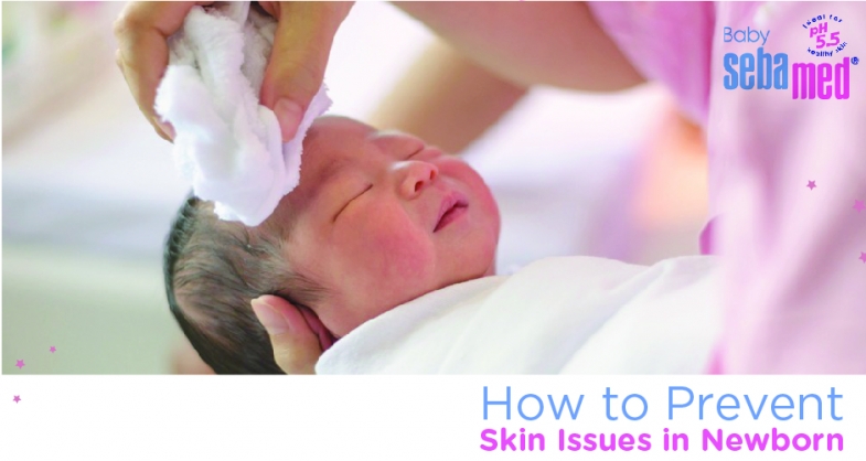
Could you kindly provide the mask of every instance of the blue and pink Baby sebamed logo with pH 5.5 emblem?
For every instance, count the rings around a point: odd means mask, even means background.
[[[805,55],[798,54],[798,62],[789,66],[788,53],[766,53],[763,47],[771,31],[746,28],[723,29],[725,43],[755,44],[757,50],[741,54],[727,53],[723,57],[726,89],[791,89],[793,99],[847,99],[851,97],[851,66],[859,58],[842,56],[848,46],[842,36],[842,18],[819,14],[803,22],[804,36],[809,34]],[[800,62],[801,58],[808,61]]]

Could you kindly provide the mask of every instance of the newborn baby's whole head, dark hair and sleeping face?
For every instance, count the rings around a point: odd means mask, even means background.
[[[169,305],[216,373],[281,373],[252,309],[277,294],[312,311],[324,347],[440,288],[493,275],[500,215],[466,162],[415,137],[323,117],[301,180],[250,228],[189,199],[165,248]]]

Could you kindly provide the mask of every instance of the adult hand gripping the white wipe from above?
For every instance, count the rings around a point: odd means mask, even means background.
[[[173,139],[170,125],[153,110],[157,87],[169,63],[167,40],[193,7],[210,1],[127,4],[115,21],[117,65],[124,73],[141,112],[164,139]],[[274,50],[259,95],[280,122],[284,141],[295,137],[303,112],[324,78],[336,29],[353,2],[259,2],[277,19]]]

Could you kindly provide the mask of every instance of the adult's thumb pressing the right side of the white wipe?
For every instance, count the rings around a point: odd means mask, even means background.
[[[295,138],[322,85],[334,35],[352,4],[303,1],[267,8],[278,23],[260,98],[277,115],[284,142]]]

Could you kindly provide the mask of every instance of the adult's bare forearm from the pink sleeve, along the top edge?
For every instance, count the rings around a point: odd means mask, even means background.
[[[582,2],[394,2],[494,75],[616,92],[644,82]]]

